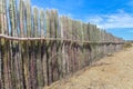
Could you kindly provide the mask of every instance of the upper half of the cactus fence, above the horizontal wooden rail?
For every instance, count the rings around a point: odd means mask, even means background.
[[[64,34],[66,34],[68,39],[72,37],[71,39],[73,40],[78,38],[76,40],[96,42],[109,40],[116,41],[115,39],[117,39],[116,37],[106,33],[105,30],[96,28],[96,26],[94,24],[83,23],[81,21],[72,20],[71,18],[64,16],[59,18],[57,10],[44,11],[43,9],[39,9],[38,7],[32,8],[30,0],[19,0],[19,6],[17,0],[1,0],[1,3],[2,6],[0,8],[0,28],[1,33],[3,34],[9,33],[13,37],[61,38],[60,36],[62,34],[58,31],[61,31],[61,22],[65,22],[64,27],[66,29],[66,32]],[[6,4],[9,6],[6,7]],[[58,30],[53,28],[57,28]],[[84,33],[82,33],[81,31],[83,31]]]

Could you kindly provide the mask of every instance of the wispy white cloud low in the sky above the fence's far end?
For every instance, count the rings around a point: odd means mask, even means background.
[[[133,28],[133,14],[121,10],[117,13],[90,17],[89,22],[98,24],[99,28]]]

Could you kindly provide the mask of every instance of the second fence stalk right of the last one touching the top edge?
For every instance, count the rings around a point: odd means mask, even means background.
[[[45,12],[44,10],[40,10],[40,31],[41,38],[45,38]],[[47,44],[45,41],[41,41],[41,62],[42,62],[42,82],[43,86],[48,86],[48,75],[47,75]]]

